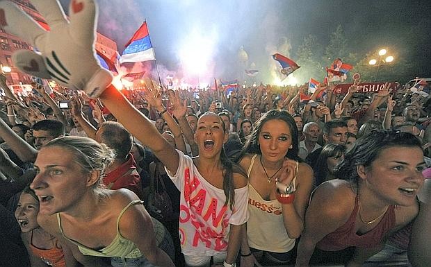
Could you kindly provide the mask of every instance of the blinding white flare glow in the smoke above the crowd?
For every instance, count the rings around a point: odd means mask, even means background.
[[[215,37],[210,34],[202,35],[193,31],[186,36],[179,49],[179,59],[188,75],[200,76],[208,71]]]

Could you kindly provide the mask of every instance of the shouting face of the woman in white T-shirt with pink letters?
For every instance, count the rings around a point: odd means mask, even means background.
[[[220,155],[227,137],[227,132],[223,129],[222,119],[217,114],[206,113],[197,121],[195,143],[199,146],[200,156]]]

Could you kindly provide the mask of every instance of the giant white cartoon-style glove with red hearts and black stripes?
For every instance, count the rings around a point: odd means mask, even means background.
[[[50,31],[45,31],[11,1],[0,1],[0,24],[5,31],[40,51],[16,51],[12,56],[15,67],[97,98],[111,84],[113,75],[96,59],[95,1],[70,1],[70,20],[57,0],[33,0],[31,3],[46,19]]]

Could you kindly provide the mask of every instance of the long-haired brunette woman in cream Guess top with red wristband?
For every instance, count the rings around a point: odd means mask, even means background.
[[[250,218],[243,229],[241,266],[288,264],[304,229],[313,170],[298,157],[298,128],[285,110],[255,123],[239,163],[248,170]]]

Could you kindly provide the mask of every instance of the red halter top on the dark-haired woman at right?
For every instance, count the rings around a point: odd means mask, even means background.
[[[348,247],[370,248],[377,246],[391,228],[395,227],[395,206],[390,205],[382,220],[369,232],[355,232],[359,198],[355,198],[355,207],[350,218],[339,229],[327,234],[317,243],[317,248],[326,251],[343,250]]]

